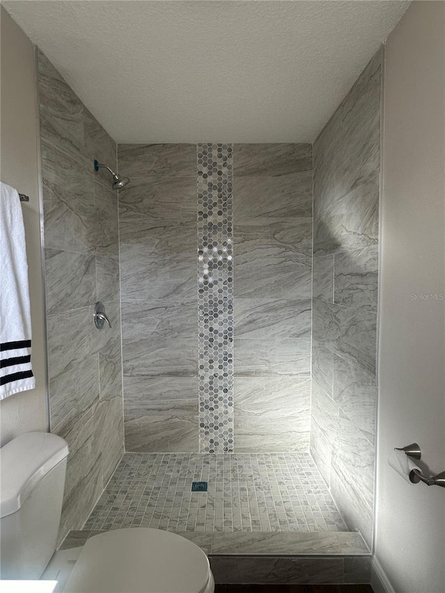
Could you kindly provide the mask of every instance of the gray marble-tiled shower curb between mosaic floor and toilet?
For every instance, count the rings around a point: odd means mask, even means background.
[[[105,530],[70,531],[60,550]],[[181,531],[209,556],[216,583],[369,583],[372,555],[359,533]]]

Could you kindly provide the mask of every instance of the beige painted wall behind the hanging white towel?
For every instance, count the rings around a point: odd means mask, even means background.
[[[29,430],[47,430],[46,365],[40,258],[37,106],[34,46],[1,7],[0,178],[31,197],[22,202],[31,292],[35,389],[0,403],[1,444]]]

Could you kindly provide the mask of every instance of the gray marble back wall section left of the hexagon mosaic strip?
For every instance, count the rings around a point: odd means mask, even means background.
[[[198,450],[196,145],[119,145],[127,451]]]

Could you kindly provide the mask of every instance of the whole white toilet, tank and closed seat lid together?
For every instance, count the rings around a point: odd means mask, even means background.
[[[26,432],[0,449],[1,579],[39,579],[56,550],[68,447]],[[213,593],[207,555],[180,535],[150,528],[90,537],[64,593]]]

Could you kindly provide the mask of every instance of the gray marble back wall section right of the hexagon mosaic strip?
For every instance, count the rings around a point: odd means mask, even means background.
[[[309,445],[312,145],[234,146],[238,452]]]

